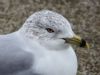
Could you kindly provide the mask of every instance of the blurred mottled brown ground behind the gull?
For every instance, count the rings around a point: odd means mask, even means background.
[[[100,75],[100,0],[0,0],[0,34],[18,30],[34,12],[49,9],[66,17],[91,48],[76,48],[77,75]]]

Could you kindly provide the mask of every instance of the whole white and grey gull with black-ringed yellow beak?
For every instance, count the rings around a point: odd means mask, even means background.
[[[19,30],[0,35],[0,75],[76,75],[72,45],[89,47],[62,15],[35,12]]]

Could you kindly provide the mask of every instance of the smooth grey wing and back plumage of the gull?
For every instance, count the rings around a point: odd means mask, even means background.
[[[14,40],[0,38],[0,75],[38,75],[31,70],[33,54],[21,49]]]

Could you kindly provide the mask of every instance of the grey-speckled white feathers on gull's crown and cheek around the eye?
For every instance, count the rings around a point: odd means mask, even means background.
[[[53,29],[54,33],[47,32],[46,28]],[[32,14],[20,30],[25,35],[28,33],[30,37],[41,39],[72,37],[74,34],[70,23],[62,15],[49,10]]]

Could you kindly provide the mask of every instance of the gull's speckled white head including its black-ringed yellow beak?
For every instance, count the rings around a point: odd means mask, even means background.
[[[70,44],[88,47],[85,40],[75,35],[66,18],[49,10],[32,14],[20,31],[25,37],[37,40],[49,49],[66,48]]]

